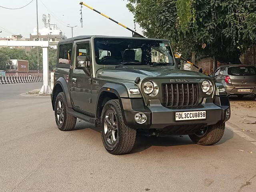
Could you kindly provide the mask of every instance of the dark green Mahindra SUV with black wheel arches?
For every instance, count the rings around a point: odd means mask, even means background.
[[[76,118],[101,130],[111,154],[129,153],[140,131],[189,135],[212,145],[224,134],[230,103],[222,84],[179,70],[167,40],[78,36],[58,45],[52,108],[62,131]]]

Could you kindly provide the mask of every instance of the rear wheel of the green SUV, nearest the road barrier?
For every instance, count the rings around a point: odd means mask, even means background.
[[[68,114],[68,105],[64,92],[60,92],[54,105],[55,121],[62,131],[71,131],[75,129],[76,117]]]

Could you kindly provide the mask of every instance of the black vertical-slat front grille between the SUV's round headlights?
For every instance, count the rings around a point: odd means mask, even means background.
[[[163,105],[166,107],[196,106],[199,100],[198,84],[163,84]]]

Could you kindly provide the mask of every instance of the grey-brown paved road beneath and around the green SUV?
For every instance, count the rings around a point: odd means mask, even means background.
[[[246,107],[233,109],[237,117],[214,146],[140,136],[131,154],[114,156],[84,122],[59,131],[50,97],[20,95],[40,87],[0,85],[1,192],[255,192],[256,126],[243,131],[238,119]]]

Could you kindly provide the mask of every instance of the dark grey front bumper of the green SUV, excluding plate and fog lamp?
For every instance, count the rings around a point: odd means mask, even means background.
[[[124,122],[127,126],[143,129],[164,129],[168,126],[196,126],[198,124],[213,125],[219,122],[226,122],[229,118],[226,117],[226,110],[230,110],[228,96],[216,96],[205,98],[202,104],[193,108],[170,109],[162,106],[159,100],[150,100],[148,106],[143,106],[144,102],[141,99],[120,99],[122,103],[122,111]],[[175,121],[176,112],[187,111],[206,111],[206,119],[203,120],[185,120]],[[143,112],[147,116],[147,122],[138,124],[134,120],[134,115],[138,112]]]

